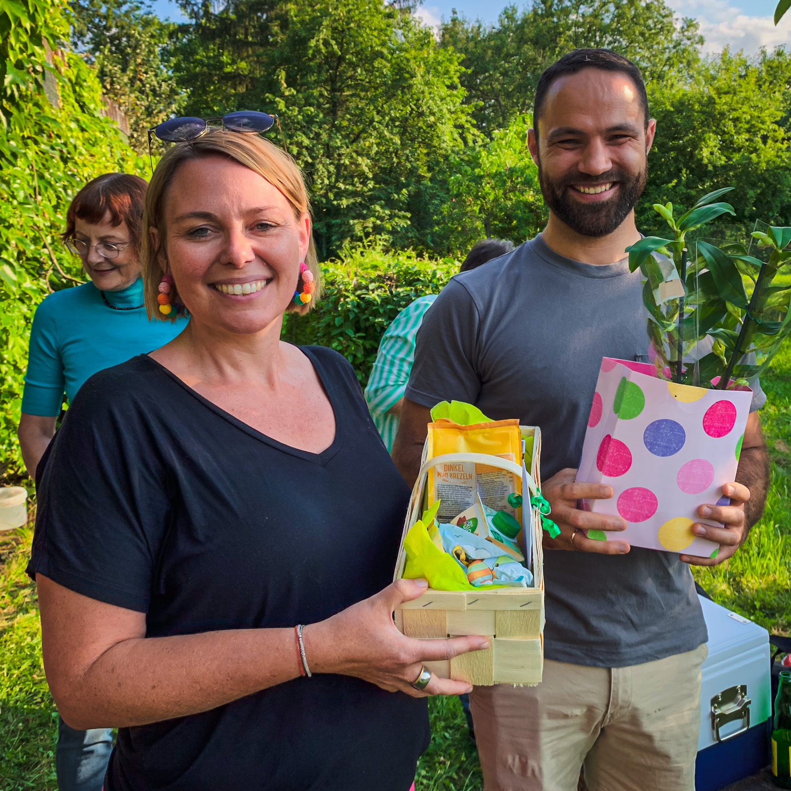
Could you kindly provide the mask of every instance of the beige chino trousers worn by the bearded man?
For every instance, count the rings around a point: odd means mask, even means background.
[[[545,660],[470,695],[486,791],[694,791],[706,645],[627,668]]]

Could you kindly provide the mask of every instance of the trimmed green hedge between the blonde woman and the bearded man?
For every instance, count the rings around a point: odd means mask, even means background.
[[[324,297],[305,316],[288,314],[282,337],[291,343],[329,346],[350,361],[365,387],[379,341],[399,311],[426,294],[439,293],[460,263],[387,252],[378,240],[345,248],[324,264]]]

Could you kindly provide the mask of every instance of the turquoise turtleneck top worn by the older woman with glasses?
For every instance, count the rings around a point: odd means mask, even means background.
[[[158,349],[187,326],[186,318],[148,320],[142,278],[123,291],[105,291],[104,297],[116,308],[134,310],[108,308],[92,282],[56,291],[36,308],[23,412],[60,414],[64,391],[71,401],[97,371]]]

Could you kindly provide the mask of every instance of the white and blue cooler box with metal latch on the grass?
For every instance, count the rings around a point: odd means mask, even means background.
[[[769,763],[769,633],[699,596],[709,630],[703,663],[696,791],[717,791]]]

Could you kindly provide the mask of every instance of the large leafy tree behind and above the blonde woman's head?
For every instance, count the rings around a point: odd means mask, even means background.
[[[473,136],[456,52],[380,0],[182,7],[187,112],[281,116],[312,187],[321,257],[371,233],[408,236],[431,172]]]

